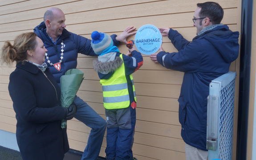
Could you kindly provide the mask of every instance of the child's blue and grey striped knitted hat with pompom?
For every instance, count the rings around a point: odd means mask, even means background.
[[[106,33],[93,31],[91,34],[91,37],[92,37],[91,46],[95,54],[100,55],[107,48],[113,47],[113,40]]]

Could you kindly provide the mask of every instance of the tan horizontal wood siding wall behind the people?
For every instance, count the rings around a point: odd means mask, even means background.
[[[139,28],[153,24],[178,30],[187,40],[195,36],[192,17],[197,3],[204,0],[1,0],[0,1],[0,47],[4,41],[13,42],[23,32],[43,20],[47,8],[61,8],[66,17],[66,29],[87,38],[94,30],[108,34],[120,34],[127,26]],[[237,0],[216,0],[224,8],[222,23],[238,31],[239,15]],[[130,37],[134,39],[134,36]],[[163,37],[163,48],[177,51],[167,37]],[[119,47],[122,53],[127,49]],[[178,119],[178,97],[183,72],[177,72],[154,64],[149,56],[143,56],[143,66],[134,73],[138,97],[137,122],[133,152],[139,160],[185,160],[185,150]],[[97,73],[93,70],[94,57],[79,54],[78,65],[85,79],[77,95],[105,118],[102,105],[102,88]],[[236,71],[236,62],[230,70]],[[8,94],[9,75],[15,69],[0,65],[0,129],[16,132],[15,112]],[[68,121],[70,148],[83,151],[90,128],[80,121]],[[97,144],[95,144],[97,145]],[[106,138],[100,156],[105,156]]]

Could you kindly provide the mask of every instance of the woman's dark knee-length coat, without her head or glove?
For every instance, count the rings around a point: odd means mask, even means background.
[[[46,76],[47,77],[46,77]],[[24,61],[10,75],[9,94],[16,112],[16,138],[23,160],[62,160],[69,150],[60,88],[49,70]]]

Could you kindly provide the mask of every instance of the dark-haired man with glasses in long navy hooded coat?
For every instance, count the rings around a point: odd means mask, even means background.
[[[220,24],[223,9],[215,2],[197,4],[192,42],[170,28],[160,28],[178,52],[152,54],[151,60],[166,68],[184,72],[179,96],[179,122],[185,141],[186,160],[207,160],[207,96],[211,80],[227,73],[239,53],[239,32]]]

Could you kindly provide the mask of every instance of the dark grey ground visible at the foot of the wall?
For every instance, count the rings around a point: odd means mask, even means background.
[[[0,146],[0,160],[22,160],[22,158],[20,152]],[[81,153],[67,152],[63,160],[81,160]],[[106,159],[98,157],[98,160]]]

